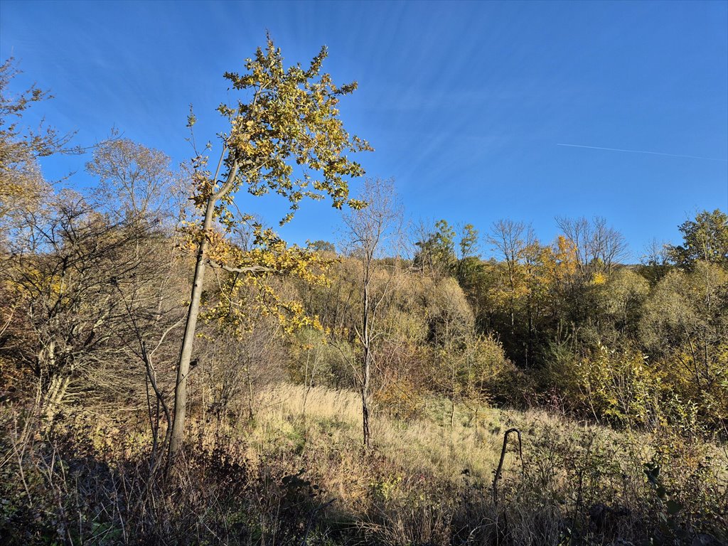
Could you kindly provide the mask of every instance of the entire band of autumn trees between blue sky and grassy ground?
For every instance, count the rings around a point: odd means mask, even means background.
[[[542,405],[620,427],[725,432],[728,218],[705,211],[684,240],[624,264],[604,218],[557,218],[542,242],[526,223],[405,224],[392,181],[347,153],[371,146],[338,118],[321,65],[284,68],[267,47],[226,79],[241,93],[218,158],[164,152],[112,135],[94,146],[96,181],[74,191],[39,161],[77,153],[71,135],[23,127],[47,94],[11,95],[0,76],[0,390],[36,400],[52,423],[74,404],[135,412],[157,463],[183,444],[186,414],[254,419],[256,391],[298,381],[360,392],[370,419],[410,419],[431,395]],[[194,129],[190,112],[188,126]],[[194,143],[194,138],[190,139]],[[269,191],[343,208],[336,244],[287,245],[234,204]],[[494,258],[484,259],[490,248]],[[338,251],[337,251],[338,250]]]

